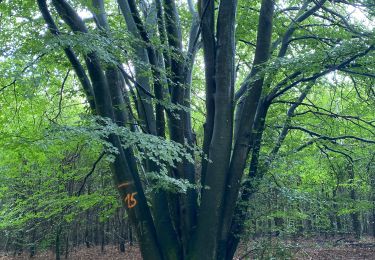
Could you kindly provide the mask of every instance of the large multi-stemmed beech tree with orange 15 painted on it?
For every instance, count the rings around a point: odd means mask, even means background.
[[[256,192],[290,129],[316,140],[374,143],[291,126],[295,110],[325,75],[374,78],[374,34],[352,24],[345,14],[347,7],[372,10],[371,1],[82,2],[37,0],[37,5],[48,36],[60,41],[92,113],[120,127],[196,145],[192,74],[203,50],[202,156],[192,152],[196,163],[183,158],[168,168],[170,177],[192,184],[187,192],[158,189],[146,196],[141,172],[158,173],[161,166],[151,159],[139,160],[135,148],[124,146],[126,140],[116,133],[106,139],[117,151],[111,169],[144,259],[232,259],[245,228],[243,202]],[[190,12],[188,36],[180,23],[185,4]],[[83,7],[93,19],[80,16]],[[109,19],[117,10],[121,22]],[[255,18],[246,18],[250,14]],[[325,27],[327,31],[321,30]],[[116,39],[119,28],[131,36],[125,37],[131,38],[128,43]],[[107,42],[104,54],[103,45],[88,40],[93,35]],[[68,36],[76,40],[68,41]],[[237,54],[240,44],[247,55]],[[247,76],[237,80],[239,71]],[[290,92],[295,95],[283,100]],[[267,113],[277,102],[290,105],[287,119],[281,122],[274,148],[260,162]]]

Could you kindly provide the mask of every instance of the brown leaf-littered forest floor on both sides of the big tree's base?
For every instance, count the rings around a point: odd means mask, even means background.
[[[27,254],[14,256],[0,252],[0,260],[54,260],[52,252],[39,253],[33,258]],[[66,259],[62,254],[61,259]],[[69,252],[69,260],[141,260],[136,246],[127,246],[126,252],[121,253],[118,247],[106,246],[104,252],[101,248],[76,248]],[[237,252],[235,260],[250,259],[293,259],[293,260],[375,260],[375,239],[363,238],[314,238],[296,240],[261,239],[242,245]]]

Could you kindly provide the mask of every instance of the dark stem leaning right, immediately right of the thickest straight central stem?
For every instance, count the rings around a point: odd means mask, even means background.
[[[221,243],[227,243],[228,234],[231,227],[233,212],[235,209],[238,192],[240,189],[240,181],[245,169],[246,158],[251,145],[251,137],[256,110],[262,93],[264,76],[259,75],[264,62],[269,59],[271,35],[272,35],[272,19],[274,12],[274,3],[271,0],[263,0],[259,14],[258,35],[253,69],[248,80],[249,93],[239,101],[237,105],[236,117],[237,125],[235,129],[235,141],[230,162],[228,177],[226,180],[225,200],[222,213],[222,232],[220,235]],[[257,76],[258,78],[252,79]],[[226,246],[226,245],[225,245]],[[224,253],[223,257],[225,257]]]

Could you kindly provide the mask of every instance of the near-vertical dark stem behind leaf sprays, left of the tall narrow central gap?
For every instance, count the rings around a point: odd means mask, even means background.
[[[171,102],[174,105],[190,106],[190,85],[186,76],[189,72],[189,67],[186,64],[187,60],[182,50],[181,27],[176,3],[174,0],[163,0],[162,3],[164,16],[160,15],[164,19],[160,19],[159,31],[162,32],[165,26],[166,40],[172,52],[169,56]],[[163,21],[164,26],[162,24]],[[194,51],[194,49],[190,50]],[[187,59],[192,57],[193,53],[191,55],[188,54]],[[173,115],[173,113],[168,113],[170,138],[181,144],[185,143],[186,138],[188,143],[192,144],[190,113],[178,109],[175,114],[177,116]],[[195,182],[194,165],[186,160],[177,164],[176,168],[173,169],[173,174],[177,178],[185,178],[191,183]],[[197,194],[195,191],[190,190],[186,195],[172,196],[173,202],[178,203],[174,209],[177,211],[175,212],[175,226],[179,229],[181,241],[184,245],[183,251],[186,255],[186,245],[190,240],[191,228],[196,222]]]

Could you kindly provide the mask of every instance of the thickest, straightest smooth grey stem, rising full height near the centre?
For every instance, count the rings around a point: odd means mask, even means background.
[[[221,1],[217,18],[215,60],[215,114],[209,160],[205,174],[198,226],[192,242],[196,253],[192,259],[216,259],[218,257],[220,224],[229,169],[233,134],[234,82],[235,82],[235,18],[237,1]],[[204,47],[205,48],[205,47]],[[207,241],[210,234],[213,239]]]

